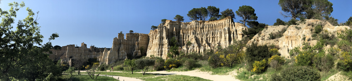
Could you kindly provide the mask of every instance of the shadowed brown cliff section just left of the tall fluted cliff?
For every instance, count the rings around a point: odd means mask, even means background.
[[[105,49],[98,56],[100,64],[110,64],[117,60],[126,59],[128,56],[140,56],[146,53],[149,42],[148,34],[127,33],[126,39],[124,34],[119,34],[118,38],[114,38],[111,50]],[[141,49],[142,53],[141,53]]]

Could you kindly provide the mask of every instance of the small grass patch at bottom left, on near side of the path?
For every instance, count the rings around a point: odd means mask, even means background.
[[[89,75],[61,75],[62,81],[117,81],[113,77],[98,76],[96,80],[92,80]]]

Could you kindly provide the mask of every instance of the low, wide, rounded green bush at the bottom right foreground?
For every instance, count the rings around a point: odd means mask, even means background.
[[[280,72],[280,75],[272,75],[271,80],[281,81],[320,81],[321,75],[313,68],[306,66],[289,67]]]

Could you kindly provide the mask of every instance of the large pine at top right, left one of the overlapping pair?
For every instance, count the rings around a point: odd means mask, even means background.
[[[306,9],[312,7],[311,0],[279,0],[278,5],[281,6],[280,12],[285,18],[291,17],[292,19],[299,18],[298,15],[302,14]]]

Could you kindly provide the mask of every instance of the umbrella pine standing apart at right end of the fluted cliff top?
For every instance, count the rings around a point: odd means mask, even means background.
[[[242,20],[240,20],[241,22],[244,23],[244,25],[246,25],[246,22],[249,20],[257,20],[258,16],[256,16],[256,14],[254,13],[254,9],[251,6],[240,6],[238,8],[238,11],[236,11],[236,14],[240,17],[242,17]]]

